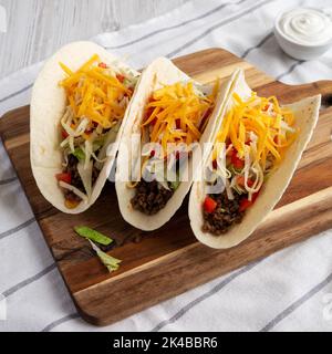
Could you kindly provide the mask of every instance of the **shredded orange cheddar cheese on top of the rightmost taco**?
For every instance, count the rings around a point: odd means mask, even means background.
[[[280,107],[278,100],[251,97],[242,101],[237,93],[232,94],[234,105],[228,111],[217,135],[216,143],[232,144],[239,158],[243,159],[246,149],[250,149],[250,133],[257,137],[256,148],[250,153],[252,160],[259,163],[264,170],[268,156],[278,165],[286,148],[293,143],[298,131],[293,128],[293,113]],[[287,127],[287,128],[286,128]],[[212,158],[217,158],[217,149]]]

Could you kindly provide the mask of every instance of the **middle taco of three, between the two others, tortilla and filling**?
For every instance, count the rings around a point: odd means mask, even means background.
[[[201,85],[164,58],[143,72],[117,158],[115,187],[127,222],[154,230],[180,207],[199,164],[199,143],[211,134],[234,76]]]

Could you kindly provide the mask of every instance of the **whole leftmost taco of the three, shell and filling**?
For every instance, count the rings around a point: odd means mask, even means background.
[[[86,210],[115,160],[138,73],[92,42],[63,46],[32,90],[31,168],[63,212]]]

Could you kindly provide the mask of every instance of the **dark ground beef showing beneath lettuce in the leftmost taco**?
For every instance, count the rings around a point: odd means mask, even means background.
[[[64,170],[65,173],[71,175],[71,185],[80,189],[82,192],[85,194],[85,188],[83,185],[83,181],[81,179],[81,176],[77,170],[77,164],[79,159],[74,155],[69,155],[68,157],[68,165],[66,169]],[[95,180],[97,179],[100,175],[100,170],[95,167],[92,169],[92,185],[94,185]],[[64,197],[65,199],[69,199],[71,201],[81,201],[82,199],[75,195],[72,190],[64,189]]]

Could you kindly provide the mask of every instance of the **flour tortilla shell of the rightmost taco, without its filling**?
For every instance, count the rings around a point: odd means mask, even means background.
[[[237,83],[234,86],[234,91],[242,100],[246,100],[250,96],[251,90],[246,83],[243,72],[239,74]],[[230,97],[231,95],[229,96],[227,103],[228,106],[231,104]],[[300,134],[297,137],[297,140],[289,147],[279,168],[263,184],[257,201],[246,211],[242,221],[235,225],[227,233],[214,236],[208,232],[203,232],[203,202],[206,197],[204,188],[205,184],[204,181],[196,181],[193,184],[189,198],[189,218],[191,229],[200,242],[211,248],[226,249],[242,242],[257,229],[259,223],[277,205],[288,187],[294,170],[297,169],[302,153],[305,149],[305,146],[310,140],[313,128],[317,124],[320,102],[321,96],[317,95],[293,104],[286,105],[286,107],[290,108],[294,113],[294,126],[300,128]],[[216,126],[215,132],[210,136],[210,142],[215,140],[221,123],[222,119],[220,119],[219,126]],[[205,160],[205,164],[207,163],[208,159]]]

